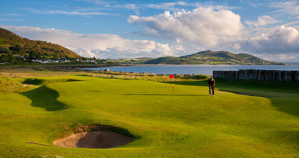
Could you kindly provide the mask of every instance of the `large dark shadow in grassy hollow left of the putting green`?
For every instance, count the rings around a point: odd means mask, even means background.
[[[59,93],[47,86],[41,86],[39,88],[19,93],[30,99],[31,106],[42,107],[46,111],[60,111],[65,109],[66,104],[57,100]]]

